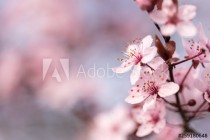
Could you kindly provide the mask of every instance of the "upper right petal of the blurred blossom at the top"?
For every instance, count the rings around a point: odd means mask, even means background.
[[[196,16],[194,5],[182,5],[179,7],[178,17],[184,21],[189,21]]]

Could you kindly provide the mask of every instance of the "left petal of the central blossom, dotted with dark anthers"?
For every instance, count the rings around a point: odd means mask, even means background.
[[[148,96],[148,94],[141,93],[139,88],[133,87],[131,88],[129,96],[125,99],[125,101],[130,104],[137,104],[144,101]]]

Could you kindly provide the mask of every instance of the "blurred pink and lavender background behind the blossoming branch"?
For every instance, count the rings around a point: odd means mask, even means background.
[[[180,3],[197,5],[210,35],[210,2]],[[86,140],[95,114],[124,104],[129,73],[111,68],[127,42],[159,34],[132,0],[0,0],[0,25],[0,140]]]

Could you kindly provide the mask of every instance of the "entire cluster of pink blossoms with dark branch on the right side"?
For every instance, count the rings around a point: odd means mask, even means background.
[[[152,35],[136,39],[122,52],[124,58],[119,58],[122,64],[113,68],[116,73],[131,70],[132,87],[125,102],[131,104],[131,116],[137,124],[133,132],[137,137],[152,132],[161,134],[170,125],[184,132],[199,131],[189,124],[209,111],[210,39],[201,23],[196,27],[192,22],[197,8],[179,5],[178,0],[136,0],[136,3],[149,13],[164,43],[157,35],[154,39]],[[182,46],[176,46],[171,38],[176,31]],[[196,34],[195,41],[192,37]],[[187,53],[183,60],[176,52],[177,47]],[[189,69],[182,66],[189,62]],[[170,116],[167,111],[179,114],[182,121],[171,123],[166,119]]]

